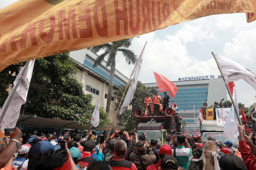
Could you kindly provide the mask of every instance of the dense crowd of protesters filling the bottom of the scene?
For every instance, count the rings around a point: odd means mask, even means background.
[[[231,141],[207,138],[215,144],[222,170],[256,169],[253,133],[247,136],[239,125],[239,134],[237,148]],[[96,136],[92,131],[72,137],[67,132],[57,137],[54,131],[40,137],[37,130],[24,136],[15,127],[1,144],[0,170],[203,170],[205,148],[200,136],[174,134],[168,144],[162,145],[157,139],[148,141],[146,134],[145,140],[133,135],[131,140],[128,132],[121,135],[115,130],[101,142],[102,134]]]

